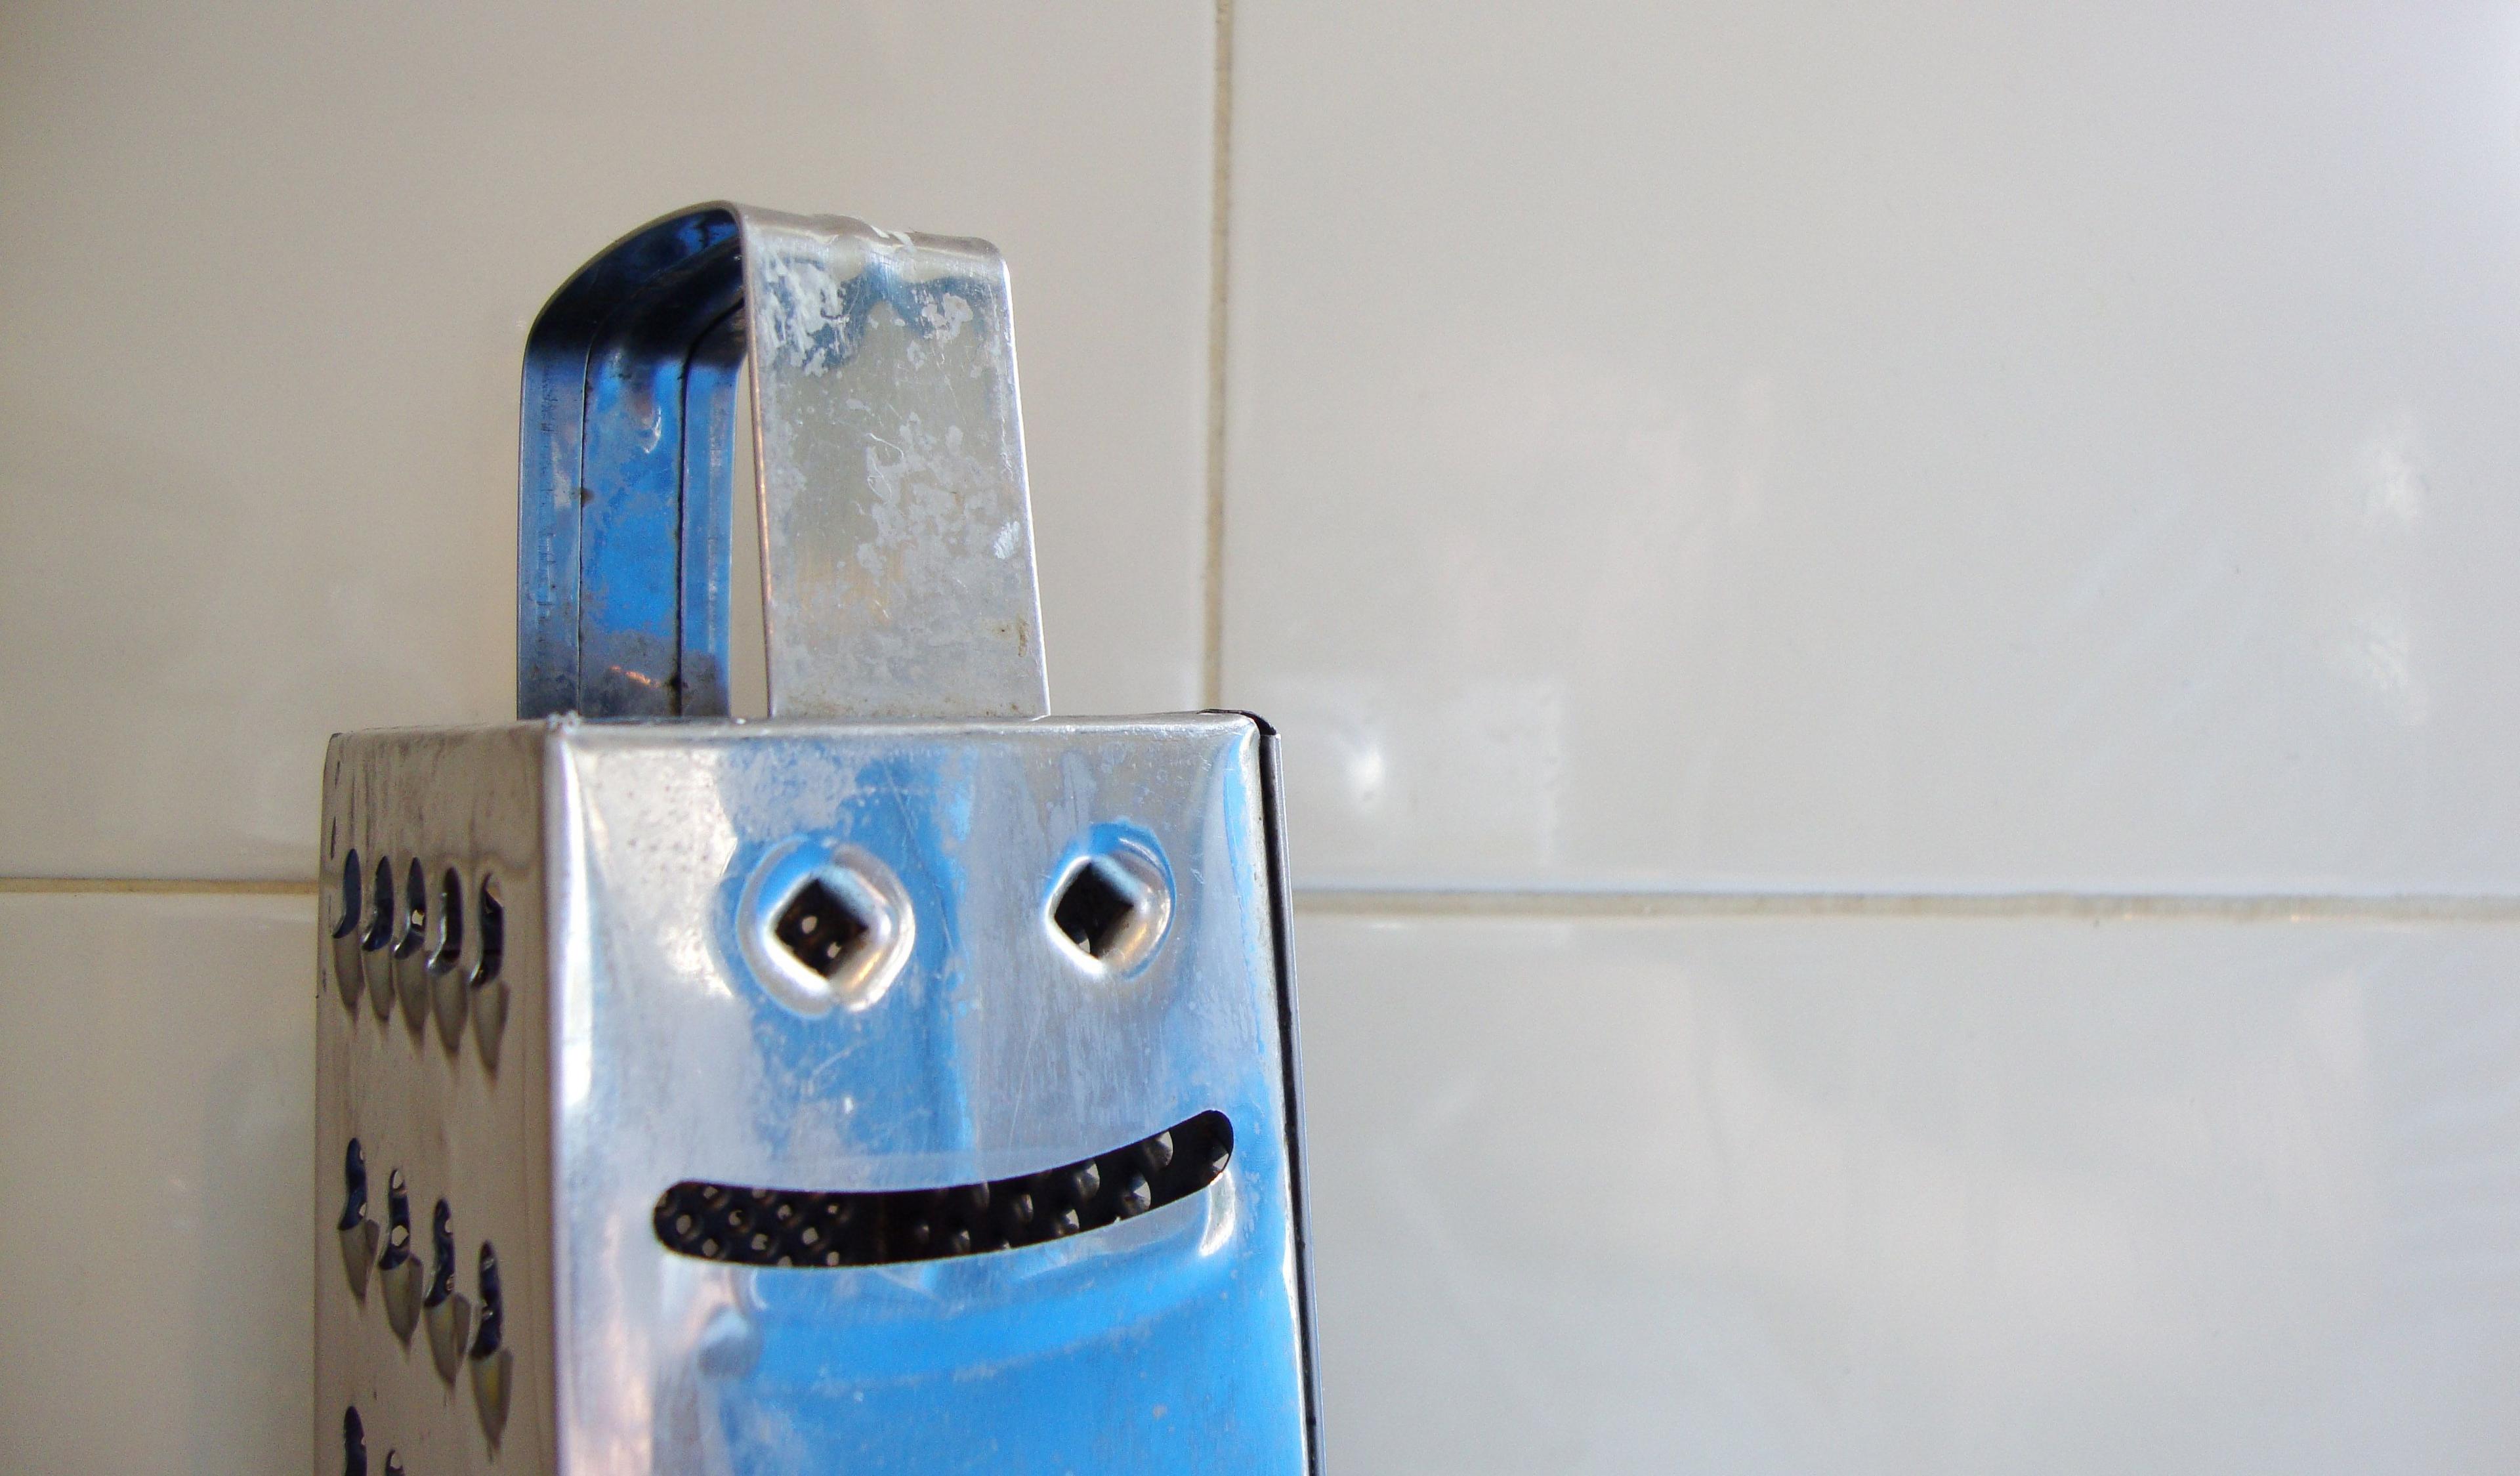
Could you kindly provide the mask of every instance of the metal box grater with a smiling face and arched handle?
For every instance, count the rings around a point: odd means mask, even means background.
[[[519,506],[519,720],[325,756],[315,1468],[1315,1471],[1275,738],[1048,715],[998,252],[622,237]]]

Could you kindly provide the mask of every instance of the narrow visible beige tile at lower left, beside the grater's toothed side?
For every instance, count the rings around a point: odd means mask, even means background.
[[[0,897],[0,1468],[307,1468],[312,922]]]

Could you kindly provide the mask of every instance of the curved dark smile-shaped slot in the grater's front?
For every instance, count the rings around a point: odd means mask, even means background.
[[[685,1179],[655,1201],[675,1254],[743,1267],[879,1267],[1063,1239],[1189,1199],[1235,1154],[1225,1113],[1200,1113],[1076,1164],[955,1184],[822,1194]]]

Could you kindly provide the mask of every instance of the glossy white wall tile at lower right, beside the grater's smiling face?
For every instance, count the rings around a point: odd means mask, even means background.
[[[2505,1468],[2520,932],[1303,927],[1326,1451]]]

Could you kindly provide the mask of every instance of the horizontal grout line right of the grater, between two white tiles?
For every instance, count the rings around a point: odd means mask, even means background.
[[[2520,922],[2520,897],[2134,894],[2134,892],[1515,892],[1298,887],[1323,917],[1915,917],[2066,922]]]

